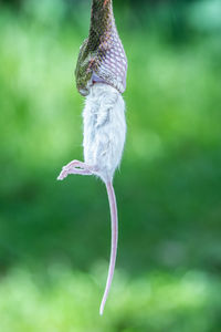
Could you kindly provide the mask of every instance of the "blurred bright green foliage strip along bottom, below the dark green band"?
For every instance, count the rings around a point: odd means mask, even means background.
[[[149,273],[134,280],[117,272],[102,318],[97,308],[106,270],[94,268],[92,277],[53,266],[43,274],[20,268],[2,280],[2,331],[219,331],[213,324],[221,283],[202,272]]]

